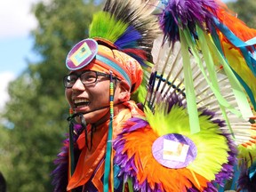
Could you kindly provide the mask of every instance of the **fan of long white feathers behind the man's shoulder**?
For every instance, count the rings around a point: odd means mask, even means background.
[[[155,71],[154,84],[148,84],[147,103],[151,108],[159,101],[167,100],[173,92],[182,98],[183,102],[188,102],[188,94],[194,92],[196,108],[207,108],[213,111],[215,119],[224,120],[226,125],[222,129],[229,130],[235,136],[236,144],[245,144],[250,140],[255,140],[256,132],[252,129],[252,124],[244,120],[236,102],[236,95],[232,91],[232,86],[228,76],[223,69],[212,66],[212,71],[207,70],[204,55],[198,52],[201,66],[198,65],[193,54],[188,53],[189,65],[191,68],[192,90],[187,90],[184,76],[184,59],[181,53],[181,45],[176,42],[172,46],[162,42],[163,36],[156,39],[152,55],[154,58]],[[212,74],[216,73],[213,78]],[[212,78],[211,78],[212,77]],[[215,81],[215,82],[214,82]],[[192,100],[194,101],[194,100]],[[246,104],[246,103],[245,103]],[[188,113],[189,114],[189,113]],[[192,117],[196,119],[195,116]]]

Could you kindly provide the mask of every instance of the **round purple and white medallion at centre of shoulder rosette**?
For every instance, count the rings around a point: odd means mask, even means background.
[[[159,137],[152,146],[156,161],[166,167],[178,169],[187,167],[197,155],[196,145],[181,134],[166,134]]]

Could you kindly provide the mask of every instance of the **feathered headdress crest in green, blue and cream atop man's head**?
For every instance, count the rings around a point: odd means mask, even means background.
[[[127,53],[140,64],[150,60],[153,41],[159,33],[156,16],[150,14],[157,1],[107,0],[103,12],[94,14],[89,36]]]

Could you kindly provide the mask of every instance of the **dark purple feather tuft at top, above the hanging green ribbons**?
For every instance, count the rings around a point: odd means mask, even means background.
[[[163,12],[159,15],[160,25],[164,31],[164,41],[172,43],[180,40],[179,28],[188,27],[194,38],[196,24],[201,28],[211,30],[212,16],[218,4],[214,0],[169,0],[162,1]]]

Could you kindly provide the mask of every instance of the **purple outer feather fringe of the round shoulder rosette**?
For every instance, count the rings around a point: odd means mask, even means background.
[[[181,108],[186,108],[186,102],[184,102],[184,100],[182,101],[182,98],[180,98],[176,93],[173,93],[172,96],[170,96],[167,100],[169,104],[168,111],[170,111],[174,105],[178,105]],[[204,108],[201,108],[200,111],[202,112],[201,116],[209,116],[209,120],[211,120],[214,117],[214,113],[212,111],[206,110]],[[220,120],[214,120],[213,123],[218,124],[220,127],[224,126],[224,122]],[[132,184],[135,190],[159,191],[161,184],[156,183],[154,188],[150,188],[148,186],[148,180],[144,180],[143,183],[141,184],[139,183],[136,177],[137,170],[134,165],[133,156],[130,159],[128,159],[128,156],[126,155],[126,153],[123,152],[123,148],[125,144],[123,135],[129,132],[134,132],[147,125],[148,125],[148,122],[143,119],[136,118],[136,117],[129,119],[128,123],[124,127],[124,131],[117,136],[116,140],[113,143],[113,147],[116,150],[116,156],[114,158],[114,162],[115,164],[119,165],[121,168],[121,172],[119,172],[119,177],[121,178],[124,177],[124,181],[126,181],[129,177],[132,178]],[[208,192],[217,192],[218,189],[215,187],[214,184],[219,184],[220,186],[223,186],[224,180],[230,180],[233,176],[233,166],[234,164],[236,164],[236,153],[237,153],[236,145],[231,139],[231,135],[226,132],[222,132],[220,134],[227,138],[228,148],[230,149],[228,151],[228,163],[222,164],[222,169],[218,174],[216,174],[215,180],[212,180],[212,182],[207,183],[207,187],[204,188],[204,191],[208,191]],[[192,188],[188,188],[188,191],[196,192],[197,189],[194,186]]]

